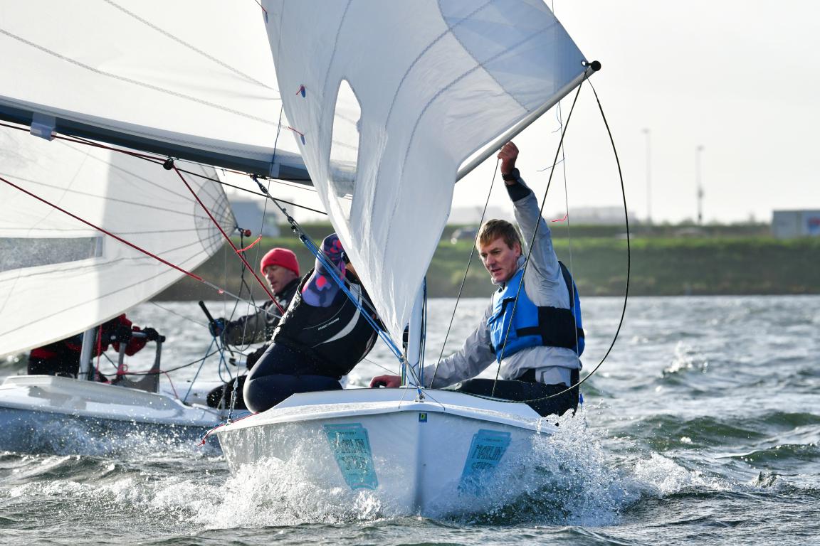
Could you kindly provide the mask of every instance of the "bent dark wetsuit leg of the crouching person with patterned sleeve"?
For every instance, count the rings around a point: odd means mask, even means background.
[[[274,407],[282,400],[298,392],[316,390],[340,390],[335,377],[296,374],[304,370],[304,355],[281,344],[271,343],[262,358],[257,361],[245,381],[245,405],[254,413]]]

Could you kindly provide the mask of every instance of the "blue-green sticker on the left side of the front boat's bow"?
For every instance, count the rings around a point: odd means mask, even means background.
[[[367,429],[362,423],[325,425],[325,434],[336,464],[350,489],[375,490],[379,485]]]

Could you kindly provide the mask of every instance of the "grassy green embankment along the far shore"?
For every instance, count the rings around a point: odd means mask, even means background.
[[[332,231],[330,224],[303,228],[314,241]],[[455,297],[464,278],[472,241],[450,241],[457,226],[448,226],[427,275],[430,297]],[[623,228],[614,226],[553,226],[558,257],[572,265],[582,296],[622,296],[626,288],[627,244]],[[294,250],[302,273],[314,258],[289,229],[281,237],[265,237],[248,250],[254,267],[259,257],[274,246]],[[235,241],[239,246],[239,241]],[[248,241],[244,241],[247,245]],[[717,296],[820,294],[820,237],[780,240],[768,234],[768,226],[660,226],[638,227],[631,232],[631,296]],[[232,293],[239,293],[241,262],[225,247],[194,273]],[[245,281],[253,295],[261,288],[250,273]],[[261,278],[261,276],[260,276]],[[473,255],[462,297],[485,297],[494,290],[477,255]],[[247,288],[242,291],[247,296]],[[155,300],[216,300],[212,288],[184,278],[162,291]]]

